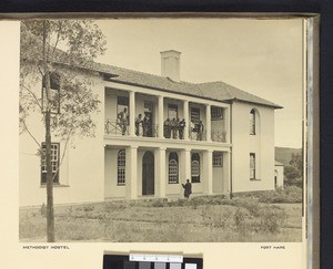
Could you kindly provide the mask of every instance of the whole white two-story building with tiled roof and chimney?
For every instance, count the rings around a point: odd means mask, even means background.
[[[274,189],[274,110],[223,82],[180,80],[180,52],[161,52],[161,75],[95,63],[95,136],[67,148],[54,203],[175,198]],[[42,122],[28,120],[43,141]],[[40,132],[39,132],[40,131]],[[44,163],[20,135],[20,205],[46,201]],[[64,145],[52,144],[57,170]]]

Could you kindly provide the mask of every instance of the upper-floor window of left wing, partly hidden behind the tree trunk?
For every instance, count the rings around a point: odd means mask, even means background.
[[[60,113],[60,75],[54,72],[50,72],[50,92],[47,99],[47,83],[46,77],[42,80],[42,111],[46,112],[48,107],[48,100],[51,104],[51,113]]]

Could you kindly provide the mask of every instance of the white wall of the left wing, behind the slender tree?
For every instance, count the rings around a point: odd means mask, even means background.
[[[54,184],[54,204],[99,201],[104,198],[104,93],[103,82],[99,76],[93,76],[93,91],[99,95],[100,113],[92,115],[97,123],[94,137],[75,138],[74,148],[68,146],[64,159],[60,166],[59,185]],[[34,91],[40,96],[40,83],[37,83]],[[44,142],[44,126],[41,122],[41,114],[31,113],[27,123],[29,130],[38,142]],[[20,170],[19,189],[20,206],[42,205],[47,203],[46,185],[41,185],[40,156],[37,155],[39,146],[27,132],[19,137],[20,146]],[[59,142],[52,137],[52,142]],[[64,152],[64,143],[60,144],[60,157]]]

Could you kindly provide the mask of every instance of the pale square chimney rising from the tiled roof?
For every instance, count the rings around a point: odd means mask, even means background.
[[[161,75],[173,81],[180,81],[180,54],[181,52],[169,50],[161,52]]]

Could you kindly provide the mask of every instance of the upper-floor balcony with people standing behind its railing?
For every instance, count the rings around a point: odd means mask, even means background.
[[[229,107],[219,103],[105,90],[108,136],[228,143],[228,121]]]

